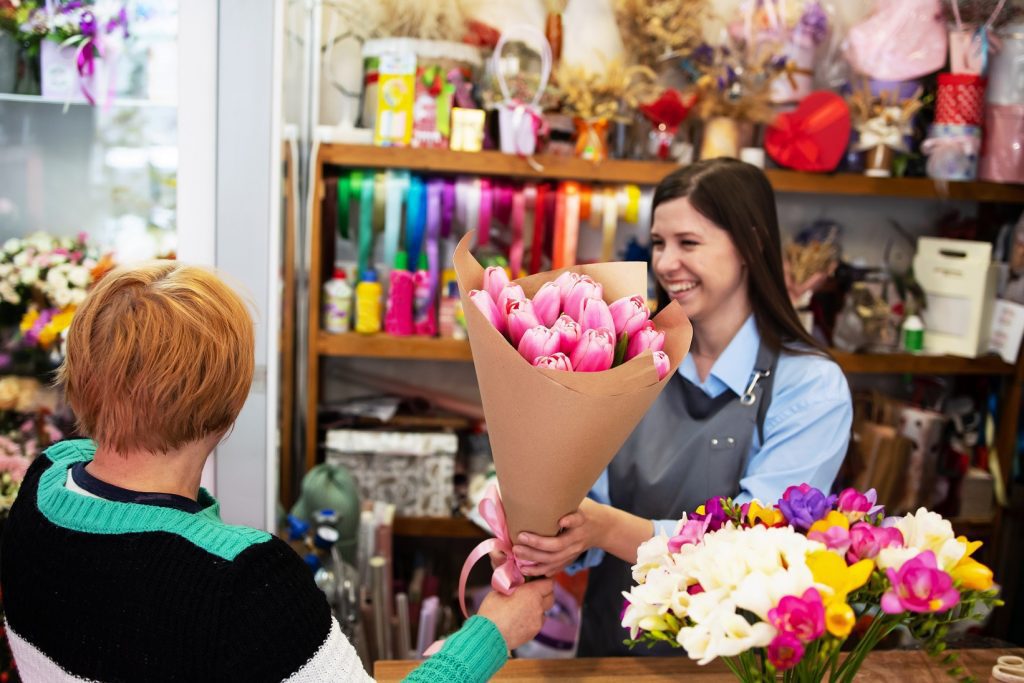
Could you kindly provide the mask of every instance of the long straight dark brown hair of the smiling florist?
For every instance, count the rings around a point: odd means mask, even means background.
[[[775,193],[764,172],[735,159],[708,159],[667,175],[654,189],[653,211],[673,200],[690,205],[732,238],[750,271],[748,296],[761,341],[775,352],[827,350],[800,324],[782,272]],[[657,285],[658,307],[669,301]],[[808,348],[810,347],[810,348]]]

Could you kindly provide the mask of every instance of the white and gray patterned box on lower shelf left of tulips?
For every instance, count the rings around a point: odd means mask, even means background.
[[[443,516],[455,508],[459,439],[442,432],[332,429],[327,462],[352,473],[364,501],[388,501],[406,516]]]

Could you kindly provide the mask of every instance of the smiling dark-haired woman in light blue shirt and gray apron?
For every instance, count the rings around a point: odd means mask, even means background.
[[[654,190],[651,266],[658,300],[693,325],[690,353],[556,538],[520,535],[523,569],[591,567],[580,654],[630,652],[622,592],[637,546],[672,537],[706,500],[773,501],[791,485],[827,490],[850,438],[850,390],[839,366],[801,327],[782,270],[775,198],[764,173],[702,161]],[[581,553],[586,553],[574,565]]]

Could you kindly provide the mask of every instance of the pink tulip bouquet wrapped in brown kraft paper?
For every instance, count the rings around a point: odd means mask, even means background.
[[[644,263],[509,282],[471,241],[454,263],[504,513],[513,539],[552,536],[686,355],[690,324],[678,304],[649,315]]]

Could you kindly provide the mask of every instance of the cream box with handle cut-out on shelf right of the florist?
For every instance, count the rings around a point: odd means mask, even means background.
[[[920,238],[913,273],[925,291],[925,351],[977,357],[988,348],[998,268],[992,245]]]

